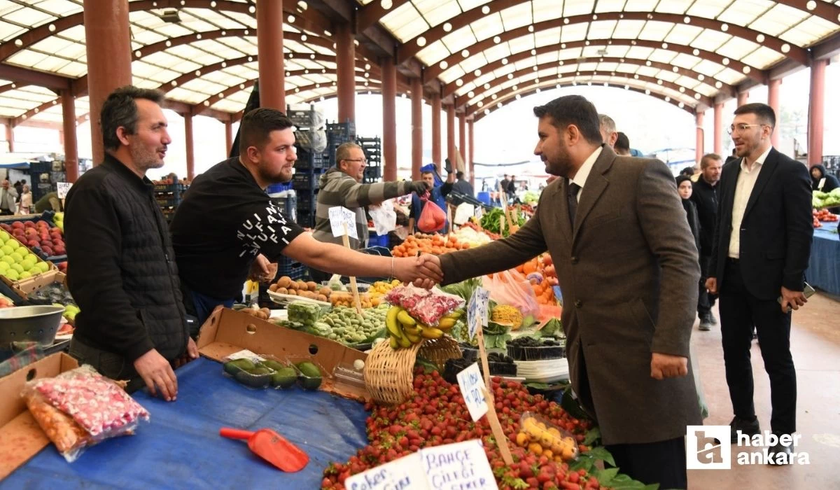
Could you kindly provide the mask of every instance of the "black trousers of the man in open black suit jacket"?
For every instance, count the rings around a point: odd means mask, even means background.
[[[738,261],[727,260],[720,294],[723,361],[727,371],[732,410],[739,419],[755,418],[753,366],[750,348],[753,326],[759,336],[764,370],[770,378],[773,414],[770,428],[776,434],[796,430],[796,371],[790,356],[790,313],[779,302],[755,298],[743,284]]]

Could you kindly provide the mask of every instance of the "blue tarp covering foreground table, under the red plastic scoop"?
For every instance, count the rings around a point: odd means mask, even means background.
[[[3,488],[318,488],[330,461],[347,461],[365,444],[363,405],[324,392],[251,390],[205,358],[176,371],[178,399],[134,398],[151,414],[137,435],[106,440],[68,464],[50,445],[0,482]],[[275,429],[309,455],[284,473],[221,427]]]

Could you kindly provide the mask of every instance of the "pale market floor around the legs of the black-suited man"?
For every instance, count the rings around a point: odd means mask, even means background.
[[[717,315],[717,311],[715,312]],[[723,367],[719,327],[701,332],[695,324],[691,341],[700,361],[700,372],[709,418],[706,425],[725,425],[732,419],[732,403]],[[822,293],[806,308],[793,313],[790,349],[796,366],[798,395],[796,427],[801,435],[797,452],[807,452],[810,465],[739,466],[737,445],[732,445],[732,469],[690,470],[690,489],[762,490],[840,488],[840,301]],[[769,379],[757,342],[752,350],[755,409],[761,429],[769,429]]]

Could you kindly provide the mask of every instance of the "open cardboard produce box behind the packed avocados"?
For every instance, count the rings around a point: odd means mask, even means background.
[[[248,313],[216,308],[202,325],[197,346],[202,356],[219,362],[244,349],[255,354],[275,356],[281,360],[311,360],[325,371],[319,389],[346,398],[370,398],[363,383],[360,386],[359,383],[345,382],[344,377],[334,376],[337,367],[354,366],[357,360],[367,361],[367,354],[334,340],[257,319]],[[219,376],[221,371],[219,366]]]

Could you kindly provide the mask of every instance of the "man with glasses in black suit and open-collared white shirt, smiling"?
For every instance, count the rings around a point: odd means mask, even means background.
[[[790,308],[807,301],[802,291],[814,234],[811,179],[806,166],[770,144],[774,126],[775,113],[766,104],[735,111],[730,133],[739,159],[723,166],[706,281],[709,291],[720,295],[723,359],[735,413],[732,442],[738,432],[759,433],[749,356],[753,325],[770,378],[770,427],[776,435],[796,430]],[[791,448],[777,444],[769,452],[770,461],[789,461]]]

